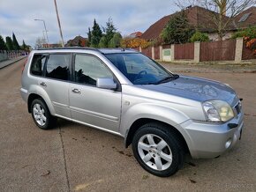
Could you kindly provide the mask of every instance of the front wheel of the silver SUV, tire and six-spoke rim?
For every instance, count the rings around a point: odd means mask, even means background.
[[[177,134],[161,123],[147,123],[132,139],[134,157],[150,174],[169,177],[184,164],[184,149]]]

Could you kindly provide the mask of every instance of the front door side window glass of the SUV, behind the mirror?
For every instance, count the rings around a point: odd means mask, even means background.
[[[109,69],[92,55],[76,55],[75,81],[81,84],[96,85],[97,78],[113,78]]]

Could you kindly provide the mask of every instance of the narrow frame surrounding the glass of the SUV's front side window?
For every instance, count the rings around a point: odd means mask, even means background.
[[[71,83],[72,84],[77,84],[77,85],[85,85],[85,86],[90,86],[90,87],[95,87],[95,88],[98,88],[97,85],[89,85],[89,84],[82,84],[82,83],[79,83],[79,82],[76,82],[75,81],[75,58],[76,58],[76,55],[87,55],[87,56],[93,56],[94,58],[98,59],[108,70],[109,72],[112,74],[113,76],[113,79],[116,81],[117,83],[117,89],[114,90],[115,92],[122,92],[122,85],[120,84],[118,78],[116,77],[116,75],[113,73],[112,70],[109,69],[109,66],[104,63],[102,61],[101,58],[99,58],[98,56],[96,55],[93,55],[93,54],[88,54],[88,53],[72,53],[72,67],[71,67],[71,74],[72,74],[72,78],[71,78]],[[100,88],[98,88],[100,89]]]

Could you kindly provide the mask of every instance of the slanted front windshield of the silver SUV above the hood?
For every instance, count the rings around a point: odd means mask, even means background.
[[[159,84],[175,77],[158,63],[139,53],[106,54],[105,56],[134,85]]]

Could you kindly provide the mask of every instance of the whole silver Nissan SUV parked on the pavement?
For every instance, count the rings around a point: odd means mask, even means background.
[[[178,76],[132,49],[34,50],[20,92],[39,128],[60,117],[124,137],[140,166],[162,177],[183,166],[185,153],[229,150],[244,125],[229,85]]]

